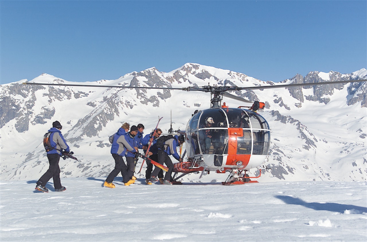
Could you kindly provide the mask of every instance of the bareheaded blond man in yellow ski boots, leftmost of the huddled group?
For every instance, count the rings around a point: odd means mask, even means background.
[[[111,154],[115,160],[115,169],[113,169],[106,178],[106,181],[103,184],[104,187],[115,188],[115,184],[113,184],[112,181],[120,172],[126,186],[135,182],[135,180],[131,180],[130,177],[128,177],[127,166],[123,159],[123,156],[127,151],[134,153],[137,152],[137,149],[131,147],[131,145],[126,141],[125,135],[129,131],[129,128],[130,124],[124,123],[121,128],[109,138],[109,141],[112,144]]]

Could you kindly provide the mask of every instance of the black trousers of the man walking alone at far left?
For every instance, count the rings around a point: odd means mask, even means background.
[[[37,184],[46,186],[47,182],[51,179],[54,180],[54,188],[59,189],[61,188],[61,181],[60,181],[60,167],[59,167],[59,154],[47,154],[48,162],[50,163],[50,167],[46,171],[43,176],[37,181]]]

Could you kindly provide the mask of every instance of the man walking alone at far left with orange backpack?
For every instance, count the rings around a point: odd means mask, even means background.
[[[51,179],[51,177],[54,180],[54,188],[56,192],[62,192],[65,191],[66,188],[61,185],[60,181],[60,167],[59,167],[59,160],[60,156],[62,156],[62,152],[69,153],[70,148],[68,144],[66,144],[66,141],[64,137],[61,134],[62,126],[59,121],[55,121],[52,123],[52,128],[48,130],[48,133],[44,136],[44,145],[47,151],[47,159],[50,163],[50,167],[48,167],[48,170],[46,171],[43,176],[37,181],[36,190],[41,192],[48,192],[48,189],[46,188],[47,182]],[[48,139],[48,142],[46,142],[46,137]],[[48,147],[48,145],[50,147]],[[64,151],[62,151],[62,149]]]

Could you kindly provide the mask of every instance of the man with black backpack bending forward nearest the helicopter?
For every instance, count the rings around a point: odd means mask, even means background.
[[[182,162],[182,158],[178,155],[176,148],[182,145],[184,142],[185,142],[185,136],[181,134],[180,136],[175,136],[174,138],[166,140],[164,142],[164,149],[158,148],[158,163],[160,163],[161,165],[163,165],[164,163],[168,167],[168,171],[166,172],[163,181],[163,184],[165,185],[172,185],[171,174],[173,170],[173,163],[169,155],[172,155],[176,160]],[[160,170],[159,167],[156,167],[153,170],[152,176],[150,176],[149,181],[151,182],[158,181],[156,176],[159,173],[159,170]]]

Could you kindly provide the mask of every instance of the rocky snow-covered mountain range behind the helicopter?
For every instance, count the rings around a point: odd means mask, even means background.
[[[149,68],[116,80],[84,84],[143,87],[235,85],[240,87],[290,83],[367,79],[367,70],[350,74],[309,72],[281,83],[264,82],[243,73],[199,64],[185,64],[172,72]],[[61,177],[103,177],[113,169],[108,137],[123,122],[145,125],[148,134],[156,125],[185,129],[196,109],[210,107],[210,94],[198,91],[1,85],[1,180],[38,179],[48,168],[42,137],[61,122],[62,133],[75,156],[61,160]],[[42,74],[29,82],[76,84]],[[77,83],[81,84],[81,83]],[[259,100],[259,113],[269,122],[272,143],[271,167],[259,181],[366,181],[367,180],[367,83],[331,84],[250,91],[231,94]],[[229,107],[242,104],[224,98]],[[137,165],[140,167],[140,164]],[[138,178],[143,178],[144,173]],[[250,170],[258,174],[258,170]],[[228,174],[190,174],[182,181],[224,181]]]

